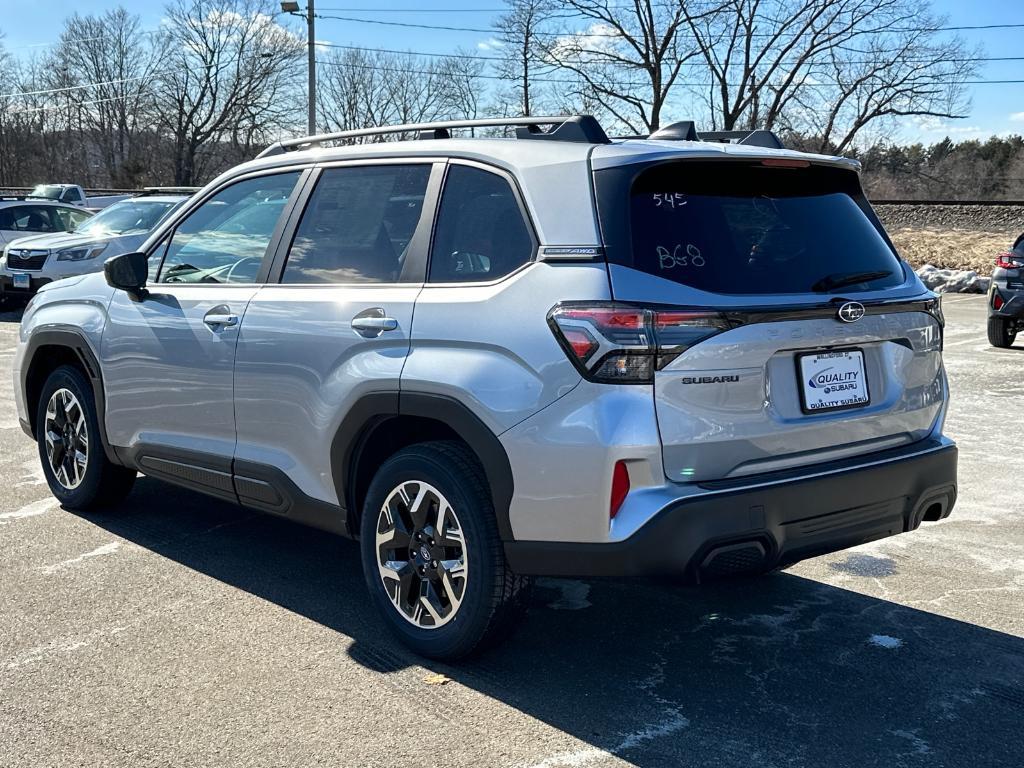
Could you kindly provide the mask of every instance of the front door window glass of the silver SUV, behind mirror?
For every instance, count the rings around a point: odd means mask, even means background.
[[[254,282],[298,178],[259,176],[207,200],[174,230],[158,282]]]

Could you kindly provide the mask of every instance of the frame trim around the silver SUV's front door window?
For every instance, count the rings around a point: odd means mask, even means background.
[[[244,173],[238,176],[232,176],[228,179],[224,179],[224,182],[218,184],[215,187],[210,187],[202,193],[202,197],[197,196],[194,200],[189,201],[190,205],[183,205],[176,211],[172,211],[171,215],[163,222],[162,226],[158,226],[160,230],[154,232],[151,237],[153,238],[152,244],[146,244],[143,248],[143,253],[145,253],[146,259],[152,259],[157,255],[157,252],[163,249],[164,253],[160,256],[160,265],[157,267],[157,278],[150,284],[153,286],[161,286],[161,290],[165,288],[174,288],[176,286],[182,286],[187,288],[223,288],[224,286],[262,286],[267,283],[267,274],[270,271],[271,264],[273,262],[273,257],[276,254],[278,246],[283,234],[287,231],[288,224],[291,221],[292,214],[294,213],[295,204],[301,197],[302,191],[304,191],[306,184],[309,181],[310,173],[312,171],[311,165],[297,165],[297,166],[275,166],[274,168],[265,168],[259,171],[254,171],[252,173]],[[164,270],[164,260],[167,258],[167,250],[177,233],[178,226],[185,221],[195,211],[198,211],[202,206],[204,206],[207,201],[209,201],[214,196],[220,194],[222,190],[234,184],[242,183],[243,181],[249,181],[250,179],[259,178],[261,176],[280,176],[286,173],[298,172],[299,177],[295,182],[295,186],[292,187],[292,194],[288,198],[288,202],[285,203],[285,208],[281,212],[281,216],[278,219],[278,223],[273,228],[273,232],[270,234],[270,240],[267,243],[266,251],[263,252],[263,261],[260,262],[259,270],[256,272],[256,278],[252,283],[161,283],[160,273]],[[148,283],[148,281],[146,281]]]

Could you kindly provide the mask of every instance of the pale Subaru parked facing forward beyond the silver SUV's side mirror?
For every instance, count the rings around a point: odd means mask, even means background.
[[[0,297],[27,299],[55,280],[102,269],[103,260],[136,250],[187,197],[151,196],[115,203],[67,232],[20,238],[0,259]],[[75,211],[74,215],[80,215]],[[2,211],[0,211],[2,215]]]

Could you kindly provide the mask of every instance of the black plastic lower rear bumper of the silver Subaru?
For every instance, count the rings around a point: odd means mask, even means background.
[[[758,572],[913,530],[956,501],[956,446],[930,440],[911,456],[813,477],[674,502],[629,539],[609,544],[507,542],[509,565],[544,575],[673,573],[699,582]]]

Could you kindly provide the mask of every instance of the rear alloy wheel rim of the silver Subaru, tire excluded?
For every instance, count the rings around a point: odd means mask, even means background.
[[[391,604],[422,629],[451,622],[468,585],[462,525],[433,485],[408,480],[394,487],[377,518],[377,565]]]

